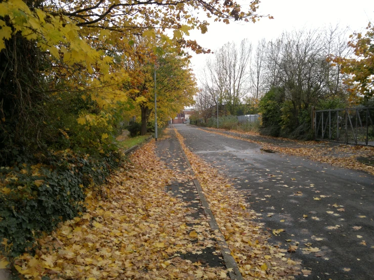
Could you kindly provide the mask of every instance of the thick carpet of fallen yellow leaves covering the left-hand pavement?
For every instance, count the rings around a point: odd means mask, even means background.
[[[154,141],[145,145],[108,179],[101,190],[107,199],[88,191],[87,212],[38,239],[35,254],[12,260],[15,269],[32,279],[227,278],[222,267],[182,258],[214,248],[215,236],[206,220],[193,223],[187,216],[193,209],[164,192],[181,177],[154,149]]]

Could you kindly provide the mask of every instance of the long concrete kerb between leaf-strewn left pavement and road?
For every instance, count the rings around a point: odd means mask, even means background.
[[[186,160],[187,166],[191,169],[190,173],[191,173],[192,176],[194,176],[195,172],[192,170],[191,164],[190,164],[190,162],[187,158],[187,155],[185,154],[185,152],[183,150],[183,147],[182,147],[181,143],[179,142],[179,139],[178,139],[178,143],[181,147],[181,151],[182,151],[184,159]],[[231,256],[229,246],[227,245],[225,237],[223,236],[223,234],[220,230],[220,227],[218,226],[218,223],[216,221],[216,218],[214,217],[213,212],[212,212],[211,208],[209,207],[209,203],[205,199],[204,192],[201,189],[201,185],[200,185],[200,183],[197,179],[193,179],[193,182],[196,186],[197,193],[200,197],[200,202],[201,202],[202,208],[204,209],[204,212],[205,212],[206,216],[208,216],[209,219],[210,219],[209,224],[210,224],[212,230],[216,233],[217,244],[218,244],[218,246],[221,250],[221,253],[222,253],[223,259],[225,261],[226,267],[227,267],[227,269],[232,268],[232,271],[231,272],[229,271],[230,279],[242,280],[243,277],[242,277],[242,275],[239,271],[237,263],[234,260],[234,258]]]

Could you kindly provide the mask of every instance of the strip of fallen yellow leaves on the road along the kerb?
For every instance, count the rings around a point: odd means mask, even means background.
[[[270,235],[262,224],[254,221],[255,211],[247,208],[231,182],[191,153],[181,134],[175,132],[243,277],[285,279],[300,274],[300,262],[289,259],[287,250],[268,243]]]

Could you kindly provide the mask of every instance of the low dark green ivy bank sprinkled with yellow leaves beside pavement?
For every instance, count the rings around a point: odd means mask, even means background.
[[[0,168],[0,255],[33,250],[35,238],[85,210],[85,190],[105,182],[121,162],[119,153],[102,158],[50,152],[49,164]]]

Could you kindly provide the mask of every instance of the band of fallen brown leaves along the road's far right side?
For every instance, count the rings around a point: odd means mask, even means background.
[[[204,129],[198,128],[200,130],[206,131]],[[357,157],[373,157],[374,156],[374,147],[367,147],[367,146],[346,146],[346,145],[339,145],[336,147],[320,147],[316,146],[318,143],[309,141],[309,142],[301,142],[292,139],[287,139],[287,141],[297,142],[298,145],[301,147],[293,148],[293,147],[279,147],[271,143],[266,143],[263,141],[256,141],[253,139],[248,139],[240,136],[230,135],[224,132],[220,132],[219,129],[210,128],[209,132],[216,133],[225,137],[239,139],[251,143],[256,143],[263,147],[265,150],[270,150],[286,155],[292,156],[301,156],[306,157],[313,161],[318,161],[321,163],[327,163],[332,166],[339,166],[349,169],[361,170],[368,172],[374,175],[374,166],[366,165],[364,163],[359,162],[356,158]],[[247,134],[247,132],[239,132],[240,134]],[[261,137],[265,137],[262,136]],[[341,155],[341,156],[337,156]]]

